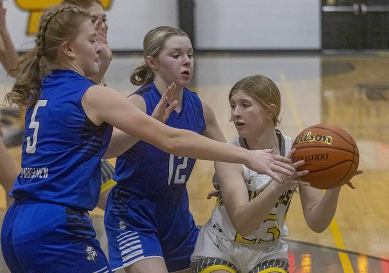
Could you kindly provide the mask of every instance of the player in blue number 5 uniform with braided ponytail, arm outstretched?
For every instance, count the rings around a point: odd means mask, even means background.
[[[1,229],[2,253],[11,272],[111,272],[87,211],[97,204],[101,158],[112,125],[169,153],[242,162],[278,181],[273,171],[294,170],[290,160],[269,150],[231,149],[166,126],[114,89],[88,80],[99,72],[102,49],[95,36],[87,10],[69,5],[47,9],[35,48],[6,95],[7,102],[27,107],[22,171]],[[41,62],[51,70],[43,79]],[[164,93],[166,102],[174,87]],[[163,111],[172,110],[161,104]]]

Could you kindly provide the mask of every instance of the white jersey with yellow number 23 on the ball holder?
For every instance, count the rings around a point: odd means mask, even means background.
[[[280,131],[276,130],[279,144],[280,154],[286,156],[291,150],[291,138],[283,136]],[[231,145],[247,148],[246,140],[240,136],[235,137]],[[256,171],[248,169],[243,166],[243,177],[248,189],[249,200],[258,196],[271,182],[272,178],[266,174],[259,174]],[[213,179],[215,188],[219,185]],[[267,220],[258,224],[258,228],[249,236],[242,237],[234,229],[230,217],[228,216],[226,207],[223,204],[223,198],[220,195],[216,200],[216,205],[213,208],[211,219],[206,223],[206,227],[216,233],[218,236],[245,244],[273,244],[281,240],[281,238],[288,236],[288,229],[285,226],[286,213],[292,200],[292,195],[296,186],[284,191],[273,209],[270,211]]]

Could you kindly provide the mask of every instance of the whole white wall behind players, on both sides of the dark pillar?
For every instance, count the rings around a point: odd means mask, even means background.
[[[112,49],[140,51],[151,28],[178,27],[177,2],[112,0],[106,11]],[[29,12],[17,7],[15,0],[4,0],[4,6],[17,49],[30,48],[34,39],[26,35]],[[319,49],[319,1],[195,0],[195,35],[200,50]]]

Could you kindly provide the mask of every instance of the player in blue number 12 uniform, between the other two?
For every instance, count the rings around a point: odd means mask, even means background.
[[[150,115],[162,91],[177,85],[169,103],[178,102],[166,124],[225,142],[212,108],[186,88],[194,71],[193,48],[180,29],[157,27],[143,40],[145,62],[131,82],[141,85],[129,100]],[[120,142],[114,130],[111,142]],[[120,139],[120,138],[119,138]],[[268,147],[267,147],[268,148]],[[124,151],[123,151],[124,152]],[[198,235],[188,208],[188,181],[195,159],[166,153],[143,141],[116,161],[105,225],[109,262],[126,272],[190,272]]]

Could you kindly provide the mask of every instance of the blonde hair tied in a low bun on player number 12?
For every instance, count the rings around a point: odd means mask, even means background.
[[[143,39],[143,56],[146,59],[147,56],[153,58],[157,57],[159,52],[163,49],[164,43],[167,39],[172,36],[186,36],[189,38],[181,29],[173,27],[161,26],[150,30]],[[133,85],[148,85],[154,80],[153,71],[144,61],[142,64],[135,68],[132,72],[130,81]]]

